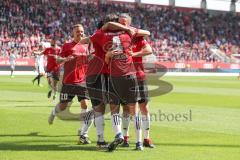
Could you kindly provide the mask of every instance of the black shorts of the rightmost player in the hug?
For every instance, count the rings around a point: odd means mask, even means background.
[[[148,86],[145,80],[137,80],[138,83],[138,103],[148,102]]]

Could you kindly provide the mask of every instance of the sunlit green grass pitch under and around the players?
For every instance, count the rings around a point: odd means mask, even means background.
[[[134,151],[131,125],[130,148],[115,152],[95,148],[95,127],[90,130],[92,144],[77,145],[80,123],[47,118],[56,102],[47,99],[47,84],[33,86],[33,76],[0,76],[0,160],[238,160],[240,159],[240,81],[236,77],[163,77],[173,85],[165,95],[153,97],[151,138],[156,148]],[[151,77],[149,77],[151,78]],[[72,112],[80,109],[76,100]],[[165,114],[187,114],[191,120],[167,121]],[[108,115],[109,116],[109,115]],[[106,118],[105,137],[113,140]]]

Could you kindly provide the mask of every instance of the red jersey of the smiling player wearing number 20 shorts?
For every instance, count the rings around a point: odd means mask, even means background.
[[[60,56],[75,57],[64,63],[63,84],[85,83],[87,70],[87,53],[85,45],[74,41],[65,43],[62,47]]]

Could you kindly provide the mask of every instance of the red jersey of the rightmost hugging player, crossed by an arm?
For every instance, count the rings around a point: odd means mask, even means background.
[[[136,37],[132,41],[132,51],[139,52],[143,47],[145,47],[148,42],[143,37]],[[136,69],[136,76],[138,80],[144,80],[144,66],[142,63],[142,57],[133,57],[133,63]]]

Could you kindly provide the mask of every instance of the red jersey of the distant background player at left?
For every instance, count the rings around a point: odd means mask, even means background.
[[[47,72],[58,72],[59,71],[59,65],[56,62],[56,55],[59,55],[61,51],[60,47],[56,48],[46,48],[43,54],[47,56]]]

